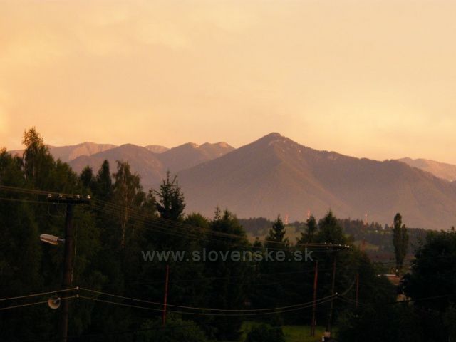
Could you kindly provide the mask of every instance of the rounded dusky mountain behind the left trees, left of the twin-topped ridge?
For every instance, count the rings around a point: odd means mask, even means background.
[[[104,160],[108,160],[111,172],[115,172],[117,168],[116,160],[128,161],[132,170],[141,176],[142,185],[146,190],[152,185],[157,185],[166,174],[166,167],[157,158],[157,154],[145,147],[132,144],[121,145],[91,156],[78,157],[71,160],[70,165],[76,172],[81,172],[86,166],[97,172]]]

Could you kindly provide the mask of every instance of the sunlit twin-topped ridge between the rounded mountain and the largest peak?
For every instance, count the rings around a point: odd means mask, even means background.
[[[189,142],[160,153],[160,155],[157,155],[157,158],[160,159],[163,165],[166,165],[171,172],[178,172],[202,162],[222,157],[222,155],[225,155],[232,150],[234,150],[234,147],[228,145],[226,142],[218,142],[215,144],[206,142],[203,145]]]

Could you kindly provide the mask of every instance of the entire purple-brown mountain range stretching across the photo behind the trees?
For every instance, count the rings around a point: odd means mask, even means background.
[[[145,189],[157,187],[167,170],[177,173],[186,212],[212,216],[215,207],[238,217],[277,214],[290,221],[317,218],[328,209],[338,217],[390,224],[396,212],[409,227],[447,229],[456,224],[456,165],[432,160],[369,160],[314,150],[271,133],[234,149],[226,142],[160,145],[49,147],[81,172],[108,160],[127,160]],[[21,151],[15,151],[21,152]]]

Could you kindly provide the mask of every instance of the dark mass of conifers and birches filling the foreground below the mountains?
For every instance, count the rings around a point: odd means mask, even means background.
[[[271,332],[274,339],[269,341],[283,341],[280,327],[309,325],[311,306],[301,305],[296,310],[271,308],[312,301],[315,261],[316,298],[329,298],[335,259],[335,288],[343,297],[333,301],[333,324],[338,327],[340,341],[366,341],[363,333],[369,334],[371,341],[437,341],[432,338],[447,338],[451,333],[454,336],[448,323],[455,317],[454,297],[447,296],[448,292],[455,294],[456,285],[452,276],[456,267],[454,232],[427,237],[416,254],[413,273],[405,275],[400,288],[412,299],[430,294],[445,297],[423,300],[419,305],[395,304],[398,288],[378,276],[381,265],[371,262],[356,247],[337,252],[316,247],[314,261],[309,262],[291,258],[308,244],[351,244],[332,212],[318,222],[310,217],[297,242],[286,239],[284,222],[278,216],[271,222],[267,236],[251,243],[229,209],[214,208],[210,218],[197,212],[185,214],[185,194],[177,177],[169,172],[160,187],[145,190],[128,162],[110,165],[105,161],[99,170],[86,167],[78,175],[68,164],[54,160],[34,128],[24,133],[24,145],[22,156],[12,156],[6,149],[0,151],[0,297],[60,289],[63,247],[43,244],[39,236],[63,236],[65,207],[49,202],[39,190],[90,195],[91,203],[74,211],[73,285],[92,300],[71,301],[70,341],[239,341],[244,338],[247,321],[261,327],[247,334],[248,341],[266,341],[264,331]],[[397,235],[398,241],[405,241],[404,234]],[[202,249],[280,250],[286,261],[145,262],[141,254],[147,250]],[[438,267],[428,259],[433,257],[447,270],[438,273],[437,279],[432,276]],[[164,300],[167,267],[170,306],[163,326],[162,306],[156,304]],[[133,299],[140,299],[142,304]],[[0,310],[1,341],[56,338],[58,309],[21,306],[31,301],[9,299],[0,303],[0,309],[20,306]],[[319,326],[326,325],[330,304],[321,301],[316,306]],[[432,326],[430,316],[438,317],[440,323]],[[394,324],[390,323],[391,317]],[[373,325],[374,330],[370,328]]]

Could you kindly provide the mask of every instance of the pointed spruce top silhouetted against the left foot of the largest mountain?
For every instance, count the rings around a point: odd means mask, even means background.
[[[155,192],[158,196],[157,211],[163,219],[181,221],[185,209],[184,195],[182,194],[177,176],[171,180],[171,172],[166,174],[166,180],[160,185],[160,191]]]

